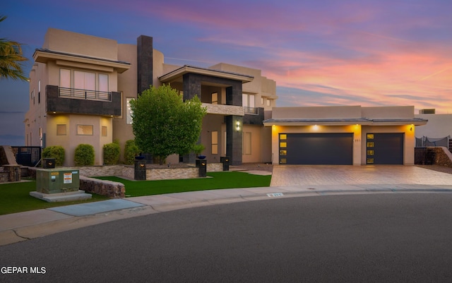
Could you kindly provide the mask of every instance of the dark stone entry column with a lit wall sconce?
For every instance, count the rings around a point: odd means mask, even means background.
[[[237,131],[237,121],[240,129]],[[243,116],[225,116],[226,123],[226,156],[231,165],[242,165]]]

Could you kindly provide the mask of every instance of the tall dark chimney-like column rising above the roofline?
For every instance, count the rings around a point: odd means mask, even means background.
[[[153,85],[153,37],[140,35],[136,40],[138,93]]]

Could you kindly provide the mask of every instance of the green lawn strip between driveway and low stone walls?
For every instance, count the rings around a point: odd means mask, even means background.
[[[114,176],[95,178],[124,183],[126,196],[128,197],[205,191],[219,188],[268,187],[271,180],[270,175],[261,176],[237,171],[213,172],[207,175],[207,178],[160,181],[130,181]]]

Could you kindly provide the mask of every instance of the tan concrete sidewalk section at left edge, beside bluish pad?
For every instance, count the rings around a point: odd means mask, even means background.
[[[71,216],[50,210],[32,210],[10,215],[0,215],[0,231],[66,218],[71,218]]]

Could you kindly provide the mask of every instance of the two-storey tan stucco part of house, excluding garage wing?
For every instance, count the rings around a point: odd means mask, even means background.
[[[81,143],[95,148],[95,164],[102,164],[102,147],[119,140],[124,149],[133,139],[130,100],[163,83],[198,95],[208,114],[201,143],[208,162],[229,156],[232,164],[269,162],[271,131],[263,128],[275,106],[275,81],[254,68],[216,64],[210,68],[165,64],[153,49],[153,38],[137,44],[49,28],[42,48],[33,54],[30,109],[25,114],[25,145],[62,145],[64,165],[73,165]],[[266,114],[267,113],[267,114]],[[180,157],[183,162],[193,155]],[[167,162],[179,162],[179,156]]]

